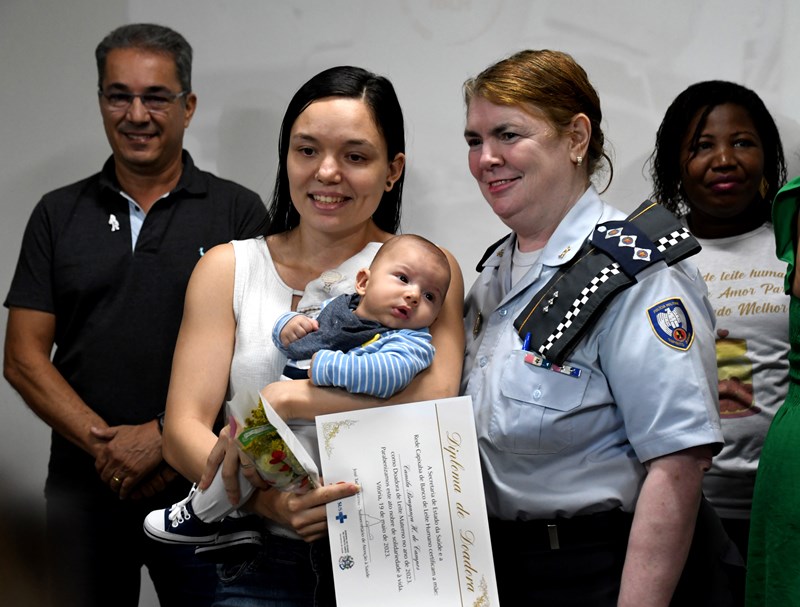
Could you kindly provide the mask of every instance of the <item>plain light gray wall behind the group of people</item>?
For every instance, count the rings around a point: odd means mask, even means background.
[[[800,79],[790,69],[799,17],[792,0],[1,0],[0,291],[41,195],[96,172],[109,153],[93,52],[122,23],[154,21],[187,37],[199,104],[186,147],[202,168],[264,198],[280,119],[302,82],[338,64],[389,77],[407,121],[403,229],[453,251],[469,286],[505,229],[467,170],[467,77],[523,48],[571,53],[603,103],[615,167],[605,198],[630,210],[650,192],[644,165],[664,110],[698,80],[756,90],[798,174]],[[0,504],[12,512],[41,512],[48,444],[45,425],[0,382]],[[146,584],[141,605],[156,604]]]

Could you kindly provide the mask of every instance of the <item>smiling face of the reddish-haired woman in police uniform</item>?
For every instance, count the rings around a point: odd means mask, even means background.
[[[579,120],[570,129],[583,128]],[[470,102],[464,132],[470,172],[495,214],[521,238],[552,232],[588,187],[585,167],[574,162],[586,139],[573,135],[520,106],[482,97]]]

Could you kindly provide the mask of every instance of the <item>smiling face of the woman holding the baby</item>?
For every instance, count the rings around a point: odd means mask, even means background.
[[[362,101],[315,101],[292,125],[286,160],[292,203],[306,227],[354,231],[371,221],[404,162],[403,154],[387,159],[383,135]]]

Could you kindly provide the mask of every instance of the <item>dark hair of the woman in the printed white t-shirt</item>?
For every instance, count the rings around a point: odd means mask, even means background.
[[[764,213],[768,219],[772,199],[786,182],[786,161],[778,127],[755,92],[724,80],[707,80],[693,84],[667,108],[661,126],[658,127],[655,150],[649,160],[653,198],[679,217],[689,212],[689,201],[681,185],[681,146],[688,134],[689,125],[698,114],[697,127],[691,134],[691,148],[697,145],[711,111],[726,103],[738,105],[747,112],[761,139],[764,150],[764,179],[768,186],[764,196]]]

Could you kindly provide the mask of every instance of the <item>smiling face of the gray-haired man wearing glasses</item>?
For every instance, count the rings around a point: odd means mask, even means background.
[[[102,91],[167,94],[181,92],[173,59],[163,53],[119,48],[108,53]],[[108,107],[100,97],[100,112],[118,171],[158,175],[180,166],[183,133],[194,114],[196,97],[175,100],[164,112],[149,112],[134,99],[127,109]]]

